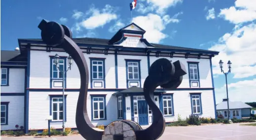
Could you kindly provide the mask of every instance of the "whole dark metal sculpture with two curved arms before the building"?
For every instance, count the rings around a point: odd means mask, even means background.
[[[87,89],[88,89],[88,67],[85,61],[85,56],[80,47],[71,39],[71,31],[64,25],[60,25],[56,22],[48,22],[42,20],[38,28],[42,31],[41,36],[43,42],[47,45],[63,48],[76,62],[81,78],[81,87],[77,102],[76,111],[76,125],[79,133],[86,140],[103,140],[103,131],[96,130],[91,124],[91,121],[87,114]],[[154,102],[154,90],[161,86],[166,89],[177,88],[186,74],[184,66],[176,61],[171,63],[168,59],[158,59],[155,61],[149,70],[149,75],[144,82],[144,96],[148,105],[152,109],[153,123],[147,129],[142,128],[135,122],[122,121],[124,124],[128,124],[129,127],[135,133],[135,140],[157,140],[164,133],[165,130],[165,118]],[[113,124],[113,123],[111,123]],[[132,124],[139,126],[134,128]],[[112,140],[123,140],[121,135],[115,135]],[[132,139],[134,140],[134,139]]]

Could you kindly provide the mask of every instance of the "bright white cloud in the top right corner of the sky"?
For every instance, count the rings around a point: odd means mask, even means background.
[[[256,20],[256,0],[236,0],[235,6],[220,9],[218,17],[234,24]]]

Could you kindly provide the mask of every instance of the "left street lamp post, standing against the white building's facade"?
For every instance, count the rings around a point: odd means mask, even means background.
[[[64,67],[65,67],[65,64],[63,66],[63,70],[60,70],[59,68],[59,55],[56,54],[54,56],[54,64],[57,66],[58,70],[62,73],[62,102],[63,102],[63,118],[62,118],[62,128],[63,128],[63,133],[65,132],[65,124],[64,124],[64,121],[65,121],[65,97],[64,97],[64,89],[65,89],[65,73],[68,71],[68,70],[71,70],[71,65],[73,64],[73,59],[71,56],[68,57],[68,69],[65,71]],[[64,63],[64,62],[63,62]]]

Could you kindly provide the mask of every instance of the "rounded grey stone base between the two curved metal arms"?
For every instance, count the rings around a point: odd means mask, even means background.
[[[136,140],[135,131],[142,128],[130,120],[110,123],[102,135],[102,140]]]

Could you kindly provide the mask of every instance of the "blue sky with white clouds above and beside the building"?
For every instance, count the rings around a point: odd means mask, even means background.
[[[42,19],[68,26],[73,37],[110,39],[132,22],[151,43],[219,51],[213,57],[216,103],[226,98],[219,60],[232,62],[230,101],[256,102],[256,0],[1,0],[1,50],[18,38],[41,38]],[[131,18],[132,17],[132,18]]]

